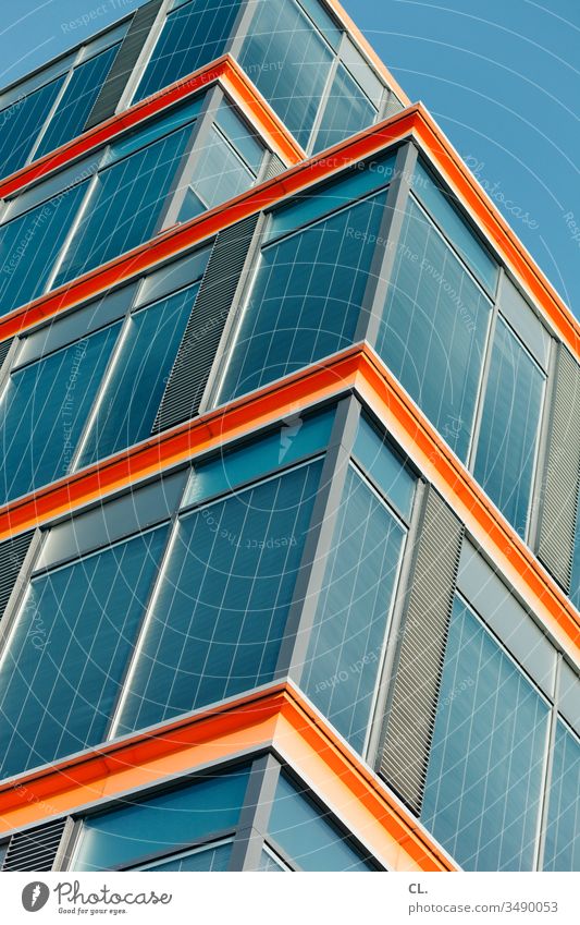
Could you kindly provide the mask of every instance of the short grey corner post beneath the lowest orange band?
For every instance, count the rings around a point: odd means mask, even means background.
[[[272,754],[262,755],[254,762],[234,837],[229,871],[258,869],[280,771],[280,763]]]

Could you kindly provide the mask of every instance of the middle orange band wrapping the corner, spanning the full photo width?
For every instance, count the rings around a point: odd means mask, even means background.
[[[578,658],[578,611],[367,344],[349,348],[7,504],[0,509],[0,539],[103,500],[194,455],[280,421],[297,405],[307,407],[353,389],[375,411],[425,477],[453,503],[560,645]]]

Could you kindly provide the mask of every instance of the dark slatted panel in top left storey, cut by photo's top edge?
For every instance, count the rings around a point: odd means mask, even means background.
[[[127,81],[147,41],[162,2],[163,0],[151,0],[150,3],[146,3],[145,7],[136,10],[128,32],[87,119],[85,131],[114,115],[119,100],[123,96]]]

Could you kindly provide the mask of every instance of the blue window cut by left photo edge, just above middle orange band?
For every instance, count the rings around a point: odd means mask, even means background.
[[[3,501],[69,473],[119,330],[112,325],[11,376],[0,405]]]

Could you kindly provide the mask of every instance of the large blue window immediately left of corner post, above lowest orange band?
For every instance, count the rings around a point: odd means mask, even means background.
[[[272,680],[320,466],[291,470],[183,518],[121,731]]]

